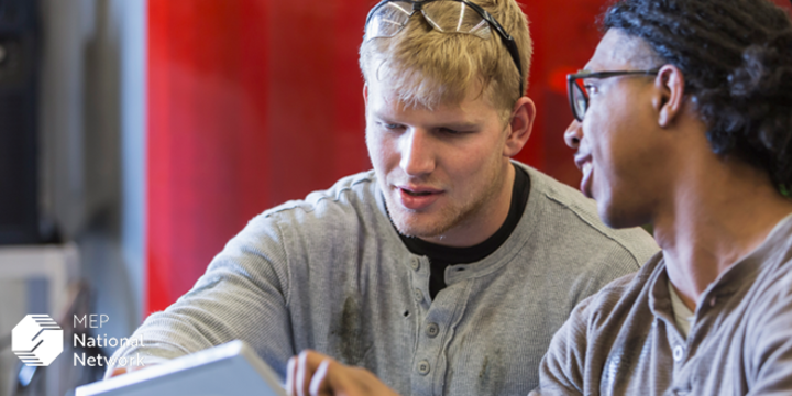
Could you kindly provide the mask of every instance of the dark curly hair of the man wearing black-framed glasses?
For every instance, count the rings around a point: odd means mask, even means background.
[[[644,38],[685,76],[715,153],[792,187],[792,22],[768,0],[620,0],[603,30]],[[659,65],[657,65],[659,66]]]

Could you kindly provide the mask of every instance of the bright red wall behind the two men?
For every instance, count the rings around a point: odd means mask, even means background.
[[[596,46],[605,2],[522,1],[539,112],[518,160],[572,185],[565,74]],[[256,213],[370,167],[358,46],[375,3],[148,2],[148,312]]]

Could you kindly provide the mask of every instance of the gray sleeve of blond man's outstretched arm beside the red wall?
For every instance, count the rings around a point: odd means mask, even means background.
[[[145,320],[130,338],[143,345],[120,348],[106,376],[121,358],[151,365],[240,339],[285,377],[295,354],[288,302],[283,234],[276,220],[261,215],[212,260],[191,290]]]

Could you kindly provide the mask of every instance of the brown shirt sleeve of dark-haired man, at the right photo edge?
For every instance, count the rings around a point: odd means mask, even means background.
[[[749,395],[792,394],[792,274],[780,283],[781,292],[761,314],[763,323],[755,338],[754,381]]]

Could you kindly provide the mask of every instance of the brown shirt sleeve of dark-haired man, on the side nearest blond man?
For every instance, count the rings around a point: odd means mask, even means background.
[[[530,396],[583,395],[588,328],[586,307],[593,298],[583,300],[553,336],[539,365],[539,387]]]

